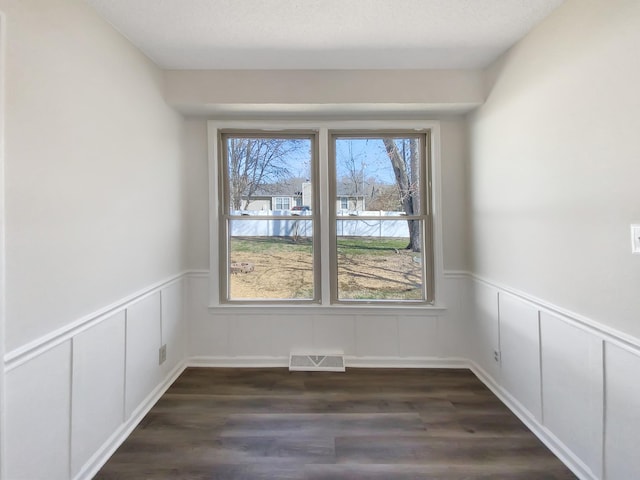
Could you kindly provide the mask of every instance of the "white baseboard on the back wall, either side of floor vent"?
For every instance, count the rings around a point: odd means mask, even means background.
[[[289,357],[191,357],[189,367],[274,368],[289,366]],[[345,356],[347,368],[469,368],[463,358]]]

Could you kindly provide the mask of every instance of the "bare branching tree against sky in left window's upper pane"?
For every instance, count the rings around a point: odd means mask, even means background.
[[[302,140],[287,138],[229,138],[227,167],[231,208],[246,209],[260,189],[289,176],[289,156],[304,144]]]

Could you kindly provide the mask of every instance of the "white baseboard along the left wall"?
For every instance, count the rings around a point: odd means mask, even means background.
[[[73,480],[90,480],[98,471],[107,463],[111,455],[115,453],[120,445],[131,435],[131,432],[138,426],[144,416],[151,410],[155,403],[168,390],[171,384],[182,374],[187,367],[186,362],[180,362],[167,375],[167,378],[158,385],[151,394],[136,408],[131,417],[118,428],[113,435],[100,447],[87,463],[82,467],[80,472],[73,477]]]

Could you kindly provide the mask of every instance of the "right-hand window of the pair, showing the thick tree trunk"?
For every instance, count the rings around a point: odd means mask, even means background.
[[[424,301],[425,136],[337,133],[332,138],[337,299]]]

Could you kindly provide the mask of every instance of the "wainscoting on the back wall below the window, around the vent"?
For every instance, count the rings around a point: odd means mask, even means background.
[[[466,366],[467,279],[446,275],[444,308],[209,309],[207,273],[189,276],[190,365],[287,366],[290,352],[343,353],[351,367]]]

